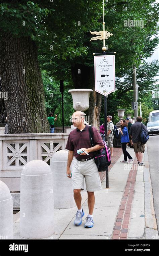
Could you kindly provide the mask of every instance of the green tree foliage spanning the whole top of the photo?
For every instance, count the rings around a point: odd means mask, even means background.
[[[83,75],[85,81],[81,79],[84,81],[81,86],[88,88],[92,85],[93,88],[92,53],[101,52],[103,42],[90,42],[92,36],[89,31],[103,30],[102,8],[101,0],[79,0],[78,3],[75,0],[4,0],[0,4],[0,37],[2,38],[5,31],[13,37],[30,37],[38,46],[40,67],[47,71],[47,76],[45,72],[45,75],[43,74],[47,111],[52,109],[57,112],[59,107],[54,104],[59,102],[60,98],[56,81],[63,79],[66,81],[65,89],[72,89],[75,86],[72,80],[73,72],[77,72],[78,68],[82,67],[84,70],[81,76]],[[106,40],[108,52],[117,52],[117,90],[108,97],[109,114],[115,115],[116,109],[123,108],[123,105],[124,108],[131,106],[133,64],[137,67],[141,98],[154,89],[153,77],[156,75],[158,64],[142,63],[140,56],[148,58],[157,46],[157,17],[158,5],[153,0],[109,0],[105,5],[105,29],[113,34]],[[143,26],[126,27],[125,21],[128,19],[142,21]],[[92,77],[85,75],[87,70]],[[123,82],[120,80],[122,77]],[[49,98],[50,91],[54,93],[54,103],[53,99]],[[64,97],[67,106],[69,101],[66,95]],[[69,100],[71,101],[70,97]],[[91,101],[91,104],[95,102]]]

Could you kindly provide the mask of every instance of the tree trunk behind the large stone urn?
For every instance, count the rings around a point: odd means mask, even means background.
[[[95,91],[94,67],[76,64],[71,67],[75,89],[92,89],[90,96],[89,123],[99,129],[102,95]]]

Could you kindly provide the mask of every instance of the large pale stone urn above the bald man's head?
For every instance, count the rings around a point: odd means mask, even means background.
[[[86,111],[89,108],[91,89],[73,89],[68,91],[72,95],[73,108],[76,111]]]

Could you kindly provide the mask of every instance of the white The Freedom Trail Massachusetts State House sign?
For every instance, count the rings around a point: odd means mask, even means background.
[[[115,91],[115,56],[94,56],[95,91],[108,95]]]

